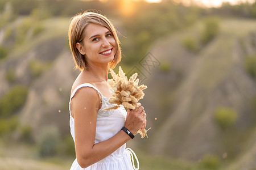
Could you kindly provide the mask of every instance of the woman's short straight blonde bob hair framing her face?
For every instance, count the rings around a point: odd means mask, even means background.
[[[76,68],[80,70],[86,69],[88,63],[86,58],[82,55],[79,50],[76,48],[76,43],[80,42],[82,45],[85,37],[85,28],[88,24],[94,23],[102,25],[105,28],[108,28],[112,32],[115,39],[116,53],[112,62],[109,63],[109,67],[114,69],[114,67],[121,61],[121,48],[120,41],[117,36],[117,31],[114,28],[114,25],[107,19],[105,16],[95,13],[85,11],[83,14],[77,14],[71,18],[71,23],[69,24],[68,38],[69,38],[69,47],[72,52],[73,59],[76,63]]]

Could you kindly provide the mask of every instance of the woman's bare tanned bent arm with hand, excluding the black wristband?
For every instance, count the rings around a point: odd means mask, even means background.
[[[80,167],[86,168],[129,141],[131,138],[125,131],[119,131],[114,137],[94,144],[96,135],[97,111],[100,109],[100,96],[90,87],[80,88],[72,98],[72,113],[75,120],[76,158]],[[143,107],[134,109],[127,114],[125,127],[135,134],[146,119]]]

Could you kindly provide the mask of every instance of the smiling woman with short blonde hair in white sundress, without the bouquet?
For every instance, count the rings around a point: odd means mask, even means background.
[[[123,107],[104,110],[113,106],[108,102],[112,97],[107,83],[109,67],[121,60],[114,26],[105,16],[85,12],[72,18],[68,36],[76,67],[81,70],[69,102],[76,149],[71,169],[138,169],[131,163],[134,152],[125,147],[133,134],[146,126],[144,108],[139,104],[127,112]]]

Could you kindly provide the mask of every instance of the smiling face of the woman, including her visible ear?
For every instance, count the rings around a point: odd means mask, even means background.
[[[113,61],[115,39],[108,28],[98,24],[88,24],[83,44],[77,43],[77,49],[85,55],[89,65],[108,64]]]

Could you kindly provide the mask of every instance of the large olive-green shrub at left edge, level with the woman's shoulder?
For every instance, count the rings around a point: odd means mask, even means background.
[[[16,85],[1,97],[0,116],[9,116],[17,111],[26,102],[28,88],[23,85]]]

